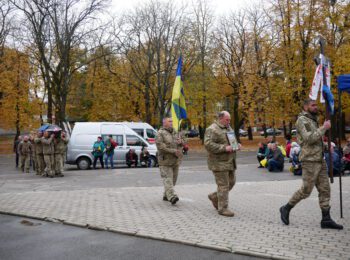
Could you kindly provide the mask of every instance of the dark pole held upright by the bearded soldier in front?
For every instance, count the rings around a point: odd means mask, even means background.
[[[323,86],[327,86],[327,75],[326,75],[326,57],[324,56],[324,45],[325,40],[323,37],[320,36],[319,38],[319,44],[321,49],[321,65],[322,65],[322,74],[323,74]],[[329,86],[330,87],[330,86]],[[326,95],[324,95],[324,98],[326,100],[326,120],[331,119],[330,111],[329,111],[329,100],[327,99]],[[333,158],[332,158],[332,151],[331,151],[331,129],[327,130],[327,146],[328,146],[328,153],[329,153],[329,178],[331,183],[334,183],[333,178]]]

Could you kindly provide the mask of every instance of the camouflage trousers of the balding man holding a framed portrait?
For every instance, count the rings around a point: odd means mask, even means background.
[[[218,211],[222,211],[228,208],[228,194],[236,183],[236,174],[235,171],[214,171],[213,174],[218,189],[209,196],[218,200]]]

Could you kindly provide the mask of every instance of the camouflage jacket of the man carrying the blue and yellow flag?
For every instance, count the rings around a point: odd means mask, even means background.
[[[176,166],[181,163],[182,144],[177,144],[178,136],[175,131],[167,128],[159,129],[156,136],[156,145],[158,149],[158,164],[160,166]],[[180,156],[176,156],[176,151],[181,152]]]

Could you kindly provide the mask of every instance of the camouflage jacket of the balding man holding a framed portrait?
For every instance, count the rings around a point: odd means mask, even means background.
[[[208,168],[211,171],[233,171],[236,169],[236,152],[226,152],[229,145],[226,133],[232,131],[219,122],[214,122],[205,131],[204,146],[208,152]]]

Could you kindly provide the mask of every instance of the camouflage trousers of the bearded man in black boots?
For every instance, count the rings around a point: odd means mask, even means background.
[[[316,186],[320,208],[328,209],[331,187],[329,185],[326,162],[303,162],[302,170],[303,184],[289,200],[289,204],[295,206],[302,199],[306,199],[310,196],[314,186]]]

